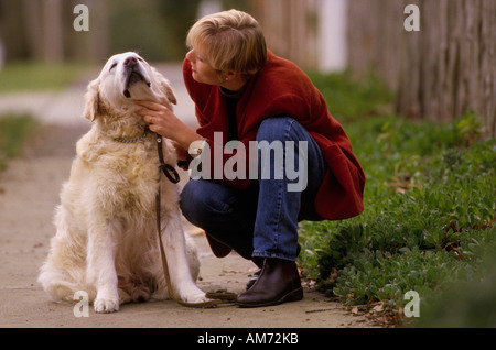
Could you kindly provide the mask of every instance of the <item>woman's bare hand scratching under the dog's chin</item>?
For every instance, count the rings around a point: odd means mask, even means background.
[[[184,124],[169,108],[151,101],[134,101],[138,106],[144,107],[137,111],[143,117],[151,131],[175,141],[184,150],[190,149],[190,144],[196,140],[203,140],[201,135]]]

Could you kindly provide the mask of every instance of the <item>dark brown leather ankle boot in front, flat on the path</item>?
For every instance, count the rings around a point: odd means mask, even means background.
[[[266,259],[257,282],[240,294],[240,307],[260,307],[296,302],[303,298],[296,263],[282,259]]]

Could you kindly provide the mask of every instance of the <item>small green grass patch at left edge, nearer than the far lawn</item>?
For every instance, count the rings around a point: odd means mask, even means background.
[[[24,140],[35,130],[37,122],[29,114],[0,116],[0,172],[10,158],[17,156]]]

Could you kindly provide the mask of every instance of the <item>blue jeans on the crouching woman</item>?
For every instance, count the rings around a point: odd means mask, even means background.
[[[271,156],[271,152],[259,149],[258,186],[240,190],[215,181],[196,179],[190,181],[181,193],[181,209],[190,222],[259,266],[265,258],[296,259],[298,222],[321,220],[314,200],[326,173],[319,144],[292,118],[263,120],[257,133],[257,142],[261,141],[269,144],[293,141],[295,151],[284,149],[282,162]],[[299,147],[300,141],[306,142],[306,152],[299,152],[304,151],[303,146]],[[302,186],[302,190],[294,190],[294,187],[288,190],[288,185],[301,182],[294,178],[294,172],[276,174],[276,165],[287,167],[288,164],[299,174],[306,173],[306,186]],[[305,172],[301,172],[301,164]]]

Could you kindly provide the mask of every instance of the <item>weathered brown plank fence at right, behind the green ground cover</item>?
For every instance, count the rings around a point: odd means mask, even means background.
[[[420,31],[405,30],[407,4]],[[385,79],[398,113],[448,121],[472,110],[495,136],[495,0],[352,0],[347,33],[352,72]]]

